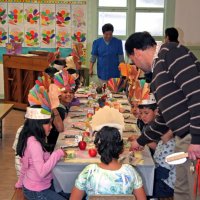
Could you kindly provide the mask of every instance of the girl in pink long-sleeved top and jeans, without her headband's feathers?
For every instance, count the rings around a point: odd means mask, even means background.
[[[52,128],[51,115],[42,114],[41,108],[28,107],[25,117],[17,144],[21,171],[15,187],[22,188],[28,200],[64,200],[51,186],[52,169],[65,155],[62,149],[50,154],[46,138]]]

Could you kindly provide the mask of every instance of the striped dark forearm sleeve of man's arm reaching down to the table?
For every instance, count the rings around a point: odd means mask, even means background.
[[[145,146],[152,141],[158,141],[168,130],[169,127],[166,125],[162,114],[159,112],[155,120],[146,127],[144,133],[137,139],[137,142],[139,145]]]

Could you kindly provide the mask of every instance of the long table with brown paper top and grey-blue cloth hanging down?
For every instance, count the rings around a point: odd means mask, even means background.
[[[82,99],[82,103],[86,103],[86,100]],[[123,98],[119,99],[119,102],[122,104],[126,104],[128,100],[124,96]],[[128,103],[126,104],[126,107],[129,106]],[[130,106],[129,106],[130,107]],[[84,121],[84,114],[87,113],[87,107],[82,107],[82,112],[69,112],[67,118],[64,121],[65,124],[65,131],[63,133],[60,133],[56,148],[60,148],[63,145],[66,145],[65,135],[71,134],[73,131],[76,131],[77,133],[81,132],[80,130],[74,130],[72,128],[73,122],[80,122]],[[83,118],[74,118],[74,115],[80,115],[83,116]],[[80,122],[81,123],[81,122]],[[80,126],[81,127],[81,126]],[[83,127],[82,127],[83,128]],[[124,133],[124,134],[131,134],[131,133]],[[70,149],[69,149],[70,151]],[[74,186],[75,180],[79,173],[88,165],[91,163],[98,163],[99,158],[90,158],[87,157],[87,152],[80,152],[81,156],[78,156],[74,159],[65,159],[61,160],[57,163],[53,170],[54,175],[54,187],[57,192],[64,191],[65,193],[70,193],[72,187]],[[139,157],[141,159],[136,159],[134,161],[135,168],[140,173],[143,185],[145,188],[145,192],[147,195],[152,195],[153,193],[153,182],[154,182],[154,169],[155,164],[152,160],[150,151],[148,147],[145,147],[145,149],[140,152],[141,155]],[[82,158],[83,155],[83,158]]]

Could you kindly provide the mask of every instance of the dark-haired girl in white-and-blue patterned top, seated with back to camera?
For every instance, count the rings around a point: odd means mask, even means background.
[[[101,163],[88,165],[78,176],[71,200],[81,200],[95,194],[134,194],[145,200],[142,180],[129,164],[118,162],[123,152],[123,140],[117,128],[104,126],[96,132],[94,144],[101,156]]]

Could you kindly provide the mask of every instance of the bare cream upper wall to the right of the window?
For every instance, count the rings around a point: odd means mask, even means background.
[[[176,0],[175,27],[181,43],[200,46],[200,0]]]

